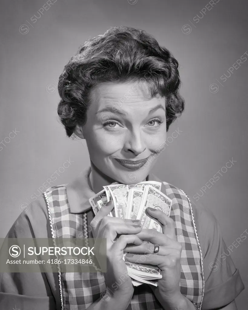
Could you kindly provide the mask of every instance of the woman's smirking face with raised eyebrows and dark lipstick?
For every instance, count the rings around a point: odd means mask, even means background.
[[[102,173],[119,183],[142,182],[166,142],[165,98],[150,99],[142,82],[101,83],[91,92],[87,121],[79,128]],[[136,166],[123,162],[146,158]]]

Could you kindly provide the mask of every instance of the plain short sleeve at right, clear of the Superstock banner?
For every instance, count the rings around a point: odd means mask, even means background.
[[[192,209],[203,256],[205,289],[202,310],[224,307],[240,294],[244,284],[213,213],[194,204]]]

